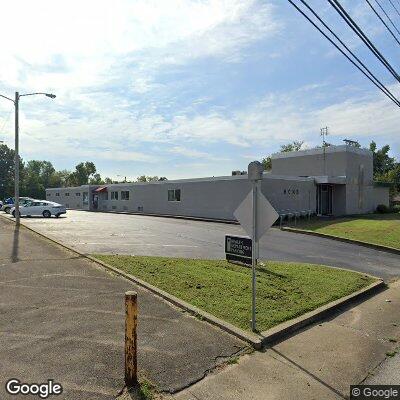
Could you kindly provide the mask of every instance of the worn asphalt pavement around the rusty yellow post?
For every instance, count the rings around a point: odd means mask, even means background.
[[[124,292],[139,299],[139,369],[176,391],[245,347],[87,259],[0,218],[0,398],[5,382],[54,379],[62,399],[123,388]],[[24,398],[20,396],[19,398]]]

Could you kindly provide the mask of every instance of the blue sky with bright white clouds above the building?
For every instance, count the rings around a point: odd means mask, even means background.
[[[400,96],[400,84],[328,2],[309,3]],[[400,15],[381,3],[400,28]],[[400,71],[400,46],[367,3],[342,4]],[[114,179],[230,175],[292,140],[320,145],[325,126],[332,144],[374,140],[400,158],[399,108],[286,0],[1,7],[0,94],[57,95],[21,99],[24,160],[69,170],[93,161]],[[0,140],[10,147],[13,124],[13,104],[0,98]]]

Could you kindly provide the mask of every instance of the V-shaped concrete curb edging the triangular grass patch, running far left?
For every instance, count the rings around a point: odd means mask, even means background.
[[[0,214],[0,217],[9,221],[10,223],[12,223],[12,221],[9,218],[7,218],[1,214]],[[157,288],[156,286],[153,286],[133,275],[130,275],[122,270],[119,270],[118,268],[115,268],[103,261],[100,261],[95,257],[92,257],[85,253],[81,253],[80,251],[63,244],[56,239],[52,239],[52,238],[44,235],[43,233],[40,233],[40,232],[34,230],[33,228],[30,228],[24,224],[21,224],[20,226],[39,235],[40,237],[42,237],[44,239],[49,240],[50,242],[53,242],[53,243],[63,247],[66,250],[69,250],[75,254],[78,254],[79,256],[84,257],[98,265],[101,265],[102,267],[106,268],[107,270],[110,270],[110,271],[114,272],[115,274],[122,276],[131,282],[134,282],[135,284],[151,291],[155,295],[161,297],[162,299],[168,301],[169,303],[175,305],[176,307],[179,307],[179,308],[187,311],[191,315],[198,317],[204,321],[207,321],[208,323],[219,327],[223,331],[228,332],[231,335],[234,335],[237,338],[249,343],[256,350],[261,350],[263,348],[263,346],[270,344],[272,342],[283,340],[290,334],[293,334],[296,331],[298,331],[299,329],[304,328],[307,325],[310,325],[316,321],[319,321],[319,320],[325,318],[328,315],[333,314],[339,308],[341,308],[345,305],[349,305],[350,303],[352,303],[356,300],[359,300],[361,298],[367,297],[368,295],[372,295],[379,289],[382,289],[386,286],[382,279],[379,279],[379,278],[369,275],[375,279],[378,279],[378,281],[372,283],[371,285],[367,286],[366,288],[363,288],[355,293],[352,293],[348,296],[342,297],[338,300],[334,300],[328,304],[325,304],[325,305],[317,308],[316,310],[310,311],[306,314],[303,314],[303,315],[301,315],[297,318],[291,319],[289,321],[285,321],[267,331],[261,332],[261,334],[256,334],[256,333],[246,332],[240,328],[237,328],[236,326],[230,324],[229,322],[223,321],[223,320],[215,317],[214,315],[209,314],[206,311],[203,311],[203,310],[185,302],[184,300],[181,300],[181,299],[165,292],[164,290]],[[366,275],[366,274],[364,274],[364,275]]]

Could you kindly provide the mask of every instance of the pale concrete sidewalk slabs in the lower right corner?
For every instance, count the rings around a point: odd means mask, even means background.
[[[400,282],[367,301],[240,358],[175,400],[345,399],[351,384],[400,384],[399,358],[385,361],[400,339]],[[380,365],[382,363],[382,365]]]

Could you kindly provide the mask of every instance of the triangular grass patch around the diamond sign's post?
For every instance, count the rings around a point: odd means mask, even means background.
[[[225,260],[95,257],[218,318],[250,330],[250,268]],[[258,329],[271,328],[372,282],[373,279],[364,275],[321,265],[264,263],[257,273]]]

